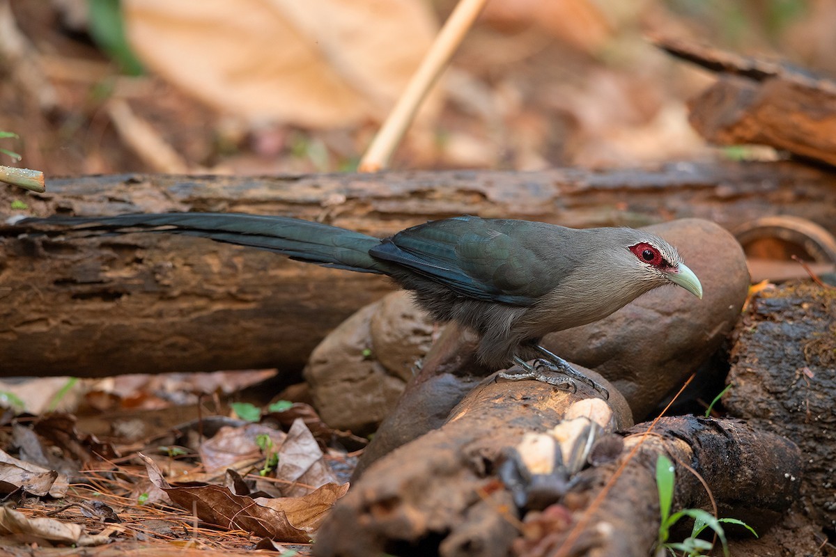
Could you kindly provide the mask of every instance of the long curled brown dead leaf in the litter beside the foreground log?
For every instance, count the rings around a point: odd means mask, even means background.
[[[308,543],[327,510],[348,490],[348,484],[329,484],[303,498],[288,500],[252,499],[219,485],[171,486],[150,458],[139,456],[151,482],[199,519],[291,543]]]

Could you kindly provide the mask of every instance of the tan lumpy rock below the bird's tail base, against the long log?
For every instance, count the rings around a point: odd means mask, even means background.
[[[323,421],[361,435],[374,431],[429,349],[432,330],[405,291],[341,323],[314,349],[304,370]]]

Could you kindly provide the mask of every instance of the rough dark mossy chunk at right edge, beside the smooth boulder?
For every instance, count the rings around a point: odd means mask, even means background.
[[[810,281],[761,291],[735,331],[730,415],[789,438],[805,464],[802,504],[824,529],[836,527],[836,290]]]

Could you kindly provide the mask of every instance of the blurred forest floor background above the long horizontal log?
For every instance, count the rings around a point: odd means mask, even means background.
[[[354,170],[455,4],[0,0],[0,130],[19,136],[0,147],[23,155],[0,164],[48,177]],[[392,167],[705,159],[718,151],[686,100],[713,78],[647,36],[826,75],[834,28],[836,3],[814,0],[491,0]]]

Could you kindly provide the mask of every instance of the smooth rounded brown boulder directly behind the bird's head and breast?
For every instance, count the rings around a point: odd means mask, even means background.
[[[637,421],[716,352],[737,323],[749,286],[742,248],[720,225],[685,219],[645,230],[676,246],[700,278],[702,300],[662,286],[599,322],[543,339],[561,357],[609,379]]]

